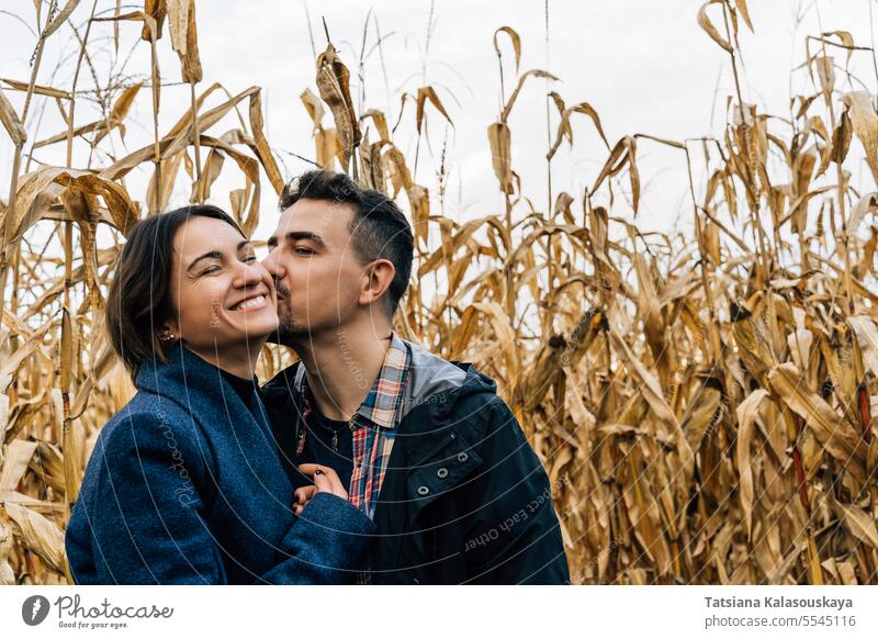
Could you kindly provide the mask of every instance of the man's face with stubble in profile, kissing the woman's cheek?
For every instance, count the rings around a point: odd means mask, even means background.
[[[281,214],[262,261],[278,290],[280,343],[344,325],[358,309],[364,267],[353,255],[348,204],[303,199]]]

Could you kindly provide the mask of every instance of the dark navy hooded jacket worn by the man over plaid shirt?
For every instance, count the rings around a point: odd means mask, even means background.
[[[408,347],[403,418],[375,507],[372,582],[570,583],[549,478],[494,381]],[[296,363],[263,386],[294,483],[303,379]]]

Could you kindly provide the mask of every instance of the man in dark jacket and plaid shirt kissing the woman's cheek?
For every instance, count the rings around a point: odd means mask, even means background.
[[[496,384],[393,332],[414,251],[396,204],[309,171],[280,210],[263,264],[301,361],[263,396],[294,484],[330,467],[378,526],[364,581],[569,583],[547,474]]]

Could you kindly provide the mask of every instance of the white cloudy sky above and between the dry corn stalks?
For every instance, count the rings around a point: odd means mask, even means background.
[[[763,112],[789,113],[790,91],[812,93],[811,80],[802,71],[791,69],[804,59],[806,34],[821,31],[849,31],[858,45],[870,46],[869,5],[878,16],[876,0],[747,0],[755,34],[741,33],[743,49],[742,82],[745,100],[758,104]],[[123,11],[138,9],[139,3],[123,3]],[[100,0],[105,14],[115,2]],[[317,49],[325,46],[320,19],[325,19],[330,36],[340,49],[356,79],[356,59],[362,47],[367,14],[373,18],[367,26],[367,49],[375,42],[376,24],[385,35],[383,63],[378,49],[365,61],[365,108],[398,114],[399,94],[416,92],[432,85],[453,120],[446,126],[436,113],[429,113],[429,148],[421,143],[417,181],[436,190],[442,139],[448,139],[449,181],[444,213],[455,218],[470,218],[502,210],[496,180],[492,170],[486,138],[487,125],[495,121],[500,108],[497,58],[492,44],[494,31],[509,25],[522,41],[521,70],[544,68],[561,78],[551,88],[569,104],[587,101],[600,114],[610,143],[622,135],[646,133],[682,141],[706,134],[718,134],[725,121],[725,98],[734,92],[729,56],[696,23],[700,1],[690,0],[549,0],[549,44],[545,43],[544,3],[541,1],[436,0],[432,5],[429,48],[426,49],[430,0],[406,2],[375,0],[353,2],[309,0],[307,11]],[[72,21],[82,25],[91,2],[83,0]],[[716,10],[717,7],[714,5]],[[2,0],[0,3],[0,77],[26,80],[35,37],[12,14],[33,27],[32,0]],[[100,9],[99,9],[100,11]],[[719,15],[713,13],[714,18]],[[721,18],[719,18],[721,20]],[[285,162],[286,176],[307,168],[283,152],[313,157],[311,124],[299,94],[314,88],[312,40],[302,1],[213,1],[198,2],[198,24],[203,88],[221,81],[230,92],[251,85],[263,87],[267,133],[279,158]],[[145,77],[148,74],[149,49],[146,43],[133,51],[138,29],[133,23],[121,26],[121,46],[115,69],[131,54],[126,72]],[[99,60],[97,72],[105,77],[112,63],[112,26],[95,24],[90,54]],[[508,44],[505,51],[509,52]],[[170,52],[167,36],[160,42],[161,72],[166,82],[179,81],[180,69]],[[71,31],[65,29],[47,45],[41,83],[69,88],[76,46]],[[844,54],[835,51],[836,60]],[[506,92],[514,75],[511,55],[506,54]],[[102,63],[100,60],[103,60]],[[54,70],[58,67],[57,70]],[[875,92],[876,74],[871,54],[857,52],[851,69]],[[54,75],[53,75],[54,74]],[[91,83],[90,77],[82,80]],[[847,80],[840,78],[840,82]],[[525,195],[538,208],[545,206],[547,143],[545,93],[549,86],[533,80],[526,86],[510,117],[514,169],[522,177]],[[854,89],[857,87],[853,85]],[[354,88],[359,94],[359,86]],[[21,94],[7,92],[20,107]],[[160,122],[169,127],[188,108],[187,87],[167,87],[161,97]],[[43,138],[64,130],[54,104],[45,110],[35,103],[27,127],[31,139]],[[42,117],[41,117],[42,113]],[[81,109],[77,124],[94,114]],[[328,122],[327,114],[327,125]],[[552,114],[552,135],[558,117]],[[38,128],[37,128],[38,126]],[[116,153],[134,150],[148,144],[151,136],[150,101],[143,91],[131,115],[125,141],[114,136]],[[222,133],[236,126],[234,121],[215,130]],[[583,187],[590,184],[606,158],[606,149],[587,119],[574,121],[576,146],[566,144],[553,162],[555,192],[566,190],[578,199]],[[3,132],[0,135],[4,136]],[[5,141],[5,137],[3,137]],[[397,133],[397,143],[409,158],[415,153],[414,109],[406,111]],[[63,147],[64,145],[58,145]],[[85,161],[86,146],[78,146],[77,161]],[[37,150],[36,159],[55,164],[63,159],[63,148]],[[639,166],[643,181],[639,223],[646,228],[672,228],[678,214],[685,225],[690,203],[687,198],[685,164],[679,150],[646,141],[639,146]],[[75,162],[77,164],[77,162]],[[99,162],[100,164],[100,162]],[[0,143],[0,183],[5,184],[11,170],[11,145]],[[865,176],[864,176],[865,178]],[[144,200],[147,168],[135,175],[130,186],[135,198]],[[855,179],[855,184],[857,180]],[[229,171],[221,186],[239,188],[240,178]],[[264,232],[273,218],[274,201],[263,191]],[[5,193],[3,193],[5,195]],[[215,201],[227,205],[225,192],[215,190]],[[188,198],[185,188],[175,195],[172,204]],[[434,202],[438,212],[438,202]],[[624,205],[614,211],[627,215]]]

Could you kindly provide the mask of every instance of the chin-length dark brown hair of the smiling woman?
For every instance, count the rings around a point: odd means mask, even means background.
[[[158,332],[175,313],[170,283],[173,238],[192,217],[213,217],[234,226],[237,222],[216,206],[183,206],[138,222],[119,258],[106,298],[110,343],[132,377],[145,361],[167,361]]]

